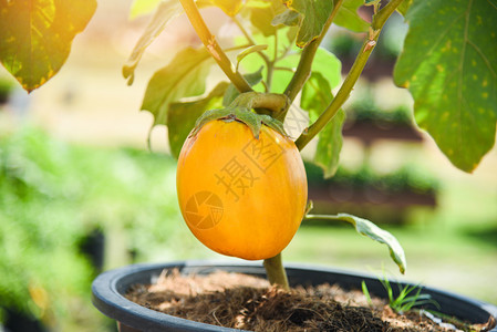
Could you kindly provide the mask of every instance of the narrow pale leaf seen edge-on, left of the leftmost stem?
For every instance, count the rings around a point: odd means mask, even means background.
[[[133,84],[135,77],[135,69],[142,59],[143,53],[146,48],[163,32],[167,23],[179,13],[182,13],[183,8],[177,0],[168,0],[161,2],[151,22],[148,22],[145,32],[139,38],[132,54],[123,66],[123,75],[127,79],[127,84]]]

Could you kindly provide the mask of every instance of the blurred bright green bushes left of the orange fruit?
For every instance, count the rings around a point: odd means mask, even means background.
[[[118,228],[141,257],[174,237],[175,167],[168,156],[68,145],[33,128],[0,137],[0,323],[8,308],[61,331],[97,323],[96,271],[81,242]]]

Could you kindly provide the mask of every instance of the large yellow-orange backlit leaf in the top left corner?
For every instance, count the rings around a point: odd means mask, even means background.
[[[0,0],[0,62],[31,92],[59,72],[96,1]]]

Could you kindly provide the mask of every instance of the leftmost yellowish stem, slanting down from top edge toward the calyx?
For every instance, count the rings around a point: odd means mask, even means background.
[[[210,55],[213,55],[214,60],[217,62],[219,68],[225,72],[231,83],[239,92],[249,92],[252,91],[248,82],[245,77],[235,70],[231,61],[226,56],[222,49],[216,41],[216,38],[210,33],[207,28],[204,19],[198,11],[197,6],[194,0],[179,0],[182,2],[183,8],[185,9],[186,15],[200,38],[204,45],[209,51]]]

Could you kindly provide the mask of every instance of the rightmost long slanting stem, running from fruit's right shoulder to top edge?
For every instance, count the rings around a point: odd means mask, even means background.
[[[343,81],[342,86],[340,86],[340,90],[333,101],[330,105],[328,105],[327,110],[324,110],[318,120],[311,126],[306,128],[299,138],[297,138],[296,145],[299,151],[301,151],[315,135],[318,135],[319,132],[321,132],[321,129],[333,118],[343,103],[345,103],[349,98],[355,82],[358,82],[362,70],[364,69],[364,65],[366,64],[367,59],[376,44],[381,29],[385,24],[386,19],[389,19],[402,1],[403,0],[392,0],[387,6],[373,15],[371,27],[373,28],[374,33],[371,34],[370,32],[370,35],[367,35],[366,40],[362,44],[361,51],[359,51],[359,55],[355,58],[354,64],[346,75],[345,81]]]

